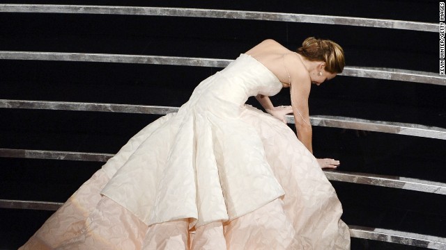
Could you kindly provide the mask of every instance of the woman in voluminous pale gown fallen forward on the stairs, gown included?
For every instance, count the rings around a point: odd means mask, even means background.
[[[22,249],[349,249],[321,170],[339,163],[312,155],[307,104],[343,67],[329,40],[261,42],[134,135]],[[272,106],[283,87],[292,106]]]

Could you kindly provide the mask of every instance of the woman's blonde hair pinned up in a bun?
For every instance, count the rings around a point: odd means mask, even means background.
[[[296,52],[307,60],[324,62],[325,71],[332,74],[341,73],[346,65],[344,49],[331,40],[307,38]]]

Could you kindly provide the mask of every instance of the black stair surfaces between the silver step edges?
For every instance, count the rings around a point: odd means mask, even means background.
[[[8,3],[35,1],[8,1]],[[5,3],[1,1],[1,3]],[[438,1],[39,1],[39,3],[254,10],[438,23]],[[438,73],[438,33],[326,24],[192,17],[0,13],[1,51],[235,59],[261,40],[289,49],[308,36],[341,44],[348,66]],[[0,60],[0,99],[180,106],[220,68]],[[337,76],[313,88],[311,115],[446,127],[446,87]],[[289,103],[289,93],[272,98]],[[254,99],[249,103],[258,106]],[[116,153],[157,115],[0,108],[0,148]],[[314,127],[316,157],[338,171],[446,183],[446,141]],[[0,158],[0,199],[63,202],[102,163]],[[332,182],[347,224],[446,238],[446,198]],[[23,244],[52,211],[0,209],[0,249]],[[352,238],[352,249],[417,249]]]

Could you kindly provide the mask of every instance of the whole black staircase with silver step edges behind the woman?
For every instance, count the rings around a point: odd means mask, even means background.
[[[446,249],[438,1],[32,2],[0,3],[0,249],[239,53],[308,36],[346,52],[309,106],[352,249]]]

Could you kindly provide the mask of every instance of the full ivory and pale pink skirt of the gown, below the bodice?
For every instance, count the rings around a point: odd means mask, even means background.
[[[185,107],[157,119],[21,249],[349,249],[312,153],[255,108],[236,118]]]

